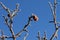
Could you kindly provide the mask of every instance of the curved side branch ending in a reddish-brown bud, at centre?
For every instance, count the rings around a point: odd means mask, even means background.
[[[34,21],[37,21],[37,20],[38,20],[38,17],[37,17],[36,15],[31,15],[31,16],[28,18],[28,23],[24,26],[24,28],[23,28],[20,32],[18,32],[18,33],[16,34],[16,37],[20,36],[21,33],[24,32],[24,31],[28,32],[27,27],[29,26],[29,24],[30,24],[30,22],[32,21],[32,19],[33,19]]]

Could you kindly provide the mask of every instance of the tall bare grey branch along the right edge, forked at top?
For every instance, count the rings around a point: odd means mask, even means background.
[[[51,9],[52,9],[52,12],[53,12],[53,23],[55,25],[55,32],[53,33],[53,35],[51,36],[50,40],[52,40],[54,37],[57,38],[57,32],[58,32],[58,29],[59,29],[59,26],[57,26],[57,22],[56,22],[56,0],[54,0],[54,6],[52,7],[51,3],[49,3]],[[51,21],[52,22],[52,21]]]

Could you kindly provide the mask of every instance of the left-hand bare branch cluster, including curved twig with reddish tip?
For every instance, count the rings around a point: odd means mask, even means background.
[[[15,34],[14,31],[13,31],[13,28],[12,28],[13,27],[13,17],[17,15],[17,12],[19,12],[19,4],[16,4],[16,9],[13,10],[13,12],[11,12],[11,10],[9,8],[7,8],[2,2],[0,2],[0,5],[8,13],[7,16],[3,15],[3,18],[5,20],[5,24],[9,28],[10,33],[12,35],[12,36],[5,36],[3,31],[1,30],[2,36],[0,36],[0,38],[2,40],[5,40],[5,38],[12,38],[13,40],[16,40],[16,38],[19,37],[22,34],[22,32],[24,32],[24,31],[28,32],[27,27],[32,20],[38,21],[38,17],[36,15],[31,15],[28,18],[28,23],[24,26],[24,28],[22,30],[20,30],[18,33]],[[25,35],[24,40],[26,40],[27,36],[28,36],[28,34]]]

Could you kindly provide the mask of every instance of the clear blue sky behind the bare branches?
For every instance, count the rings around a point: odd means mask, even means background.
[[[54,32],[54,24],[49,23],[50,20],[53,20],[52,12],[49,7],[48,2],[54,2],[53,0],[0,0],[3,4],[6,5],[10,10],[15,9],[16,3],[20,4],[19,9],[21,9],[21,12],[18,12],[18,15],[14,17],[14,23],[13,23],[13,30],[16,33],[18,33],[21,29],[23,29],[24,25],[28,21],[28,17],[34,13],[39,17],[39,20],[37,22],[32,21],[30,23],[30,26],[28,27],[29,35],[26,40],[38,40],[36,38],[37,32],[40,31],[40,36],[43,37],[44,31],[47,34],[47,39],[51,37],[51,35]],[[56,10],[56,18],[57,22],[60,21],[60,3],[59,0]],[[7,12],[0,6],[0,29],[4,31],[5,35],[11,35],[10,31],[7,27],[7,25],[4,24],[4,19],[2,15],[6,15]],[[17,38],[17,40],[23,40],[23,37],[26,33],[22,33],[20,37]],[[54,40],[60,39],[60,30],[58,32],[58,38]],[[12,39],[7,39],[12,40]]]

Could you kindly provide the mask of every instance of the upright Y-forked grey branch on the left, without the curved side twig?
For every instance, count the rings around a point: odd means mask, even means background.
[[[13,40],[16,40],[16,37],[15,37],[15,34],[14,34],[14,31],[12,29],[12,23],[13,23],[13,17],[17,14],[17,12],[19,11],[19,4],[16,4],[16,9],[11,12],[11,10],[9,10],[9,8],[7,8],[2,2],[0,2],[0,5],[3,7],[3,9],[5,9],[8,14],[7,14],[7,17],[3,16],[4,19],[5,19],[5,23],[6,25],[8,26],[11,34],[12,34],[12,37],[13,37]],[[8,22],[8,19],[9,19],[9,22]]]

